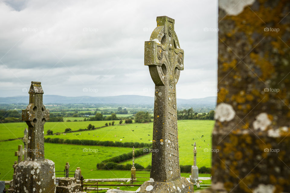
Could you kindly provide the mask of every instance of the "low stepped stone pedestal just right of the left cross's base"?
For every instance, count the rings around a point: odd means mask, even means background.
[[[82,186],[76,183],[75,178],[62,178],[56,186],[56,193],[80,193]]]

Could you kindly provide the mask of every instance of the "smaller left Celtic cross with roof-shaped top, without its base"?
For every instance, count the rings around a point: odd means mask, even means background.
[[[44,160],[44,123],[49,120],[49,110],[43,105],[40,82],[31,82],[29,105],[22,110],[22,120],[28,125],[27,160]]]

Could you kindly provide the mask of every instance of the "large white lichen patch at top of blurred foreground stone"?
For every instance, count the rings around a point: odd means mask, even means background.
[[[218,6],[228,15],[238,15],[243,12],[244,7],[252,5],[255,0],[219,0]]]

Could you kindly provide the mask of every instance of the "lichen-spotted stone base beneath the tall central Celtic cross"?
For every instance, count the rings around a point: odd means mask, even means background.
[[[193,192],[193,184],[185,177],[181,177],[177,180],[170,181],[170,182],[152,182],[147,181],[144,182],[136,190],[139,193],[163,193],[163,192],[170,192],[170,193],[192,193]]]

